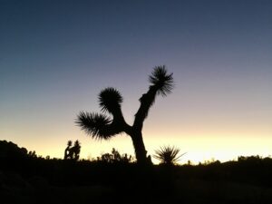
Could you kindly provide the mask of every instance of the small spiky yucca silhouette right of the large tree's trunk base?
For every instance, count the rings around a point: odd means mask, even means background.
[[[160,150],[155,151],[153,157],[160,160],[160,163],[173,165],[180,160],[180,157],[185,153],[180,154],[180,149],[174,146],[163,146]]]

